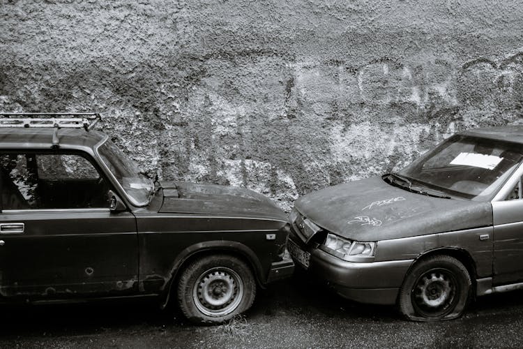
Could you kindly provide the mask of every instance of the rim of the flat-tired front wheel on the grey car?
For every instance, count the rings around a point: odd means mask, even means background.
[[[448,269],[436,268],[423,273],[411,292],[416,312],[426,318],[444,316],[453,311],[460,285]]]

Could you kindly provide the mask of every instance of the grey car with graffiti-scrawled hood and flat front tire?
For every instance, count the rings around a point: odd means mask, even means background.
[[[522,127],[478,128],[400,172],[305,195],[289,252],[343,297],[457,318],[474,296],[523,288],[522,156]]]

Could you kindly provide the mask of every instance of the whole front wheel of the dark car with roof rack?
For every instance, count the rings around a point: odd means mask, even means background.
[[[192,322],[215,324],[252,306],[256,282],[250,267],[232,255],[207,255],[181,273],[178,302]]]

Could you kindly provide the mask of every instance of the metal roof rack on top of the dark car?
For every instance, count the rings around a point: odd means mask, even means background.
[[[102,118],[98,113],[2,112],[0,127],[84,128],[89,131]]]

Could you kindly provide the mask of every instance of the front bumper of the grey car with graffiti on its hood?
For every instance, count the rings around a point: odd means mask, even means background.
[[[317,279],[326,281],[342,297],[356,302],[395,304],[404,276],[413,262],[347,262],[319,248],[304,246],[298,239],[292,241],[310,253],[308,266],[298,261],[296,264]]]

